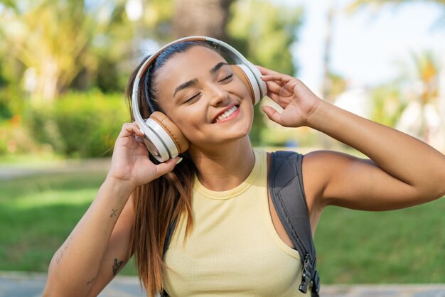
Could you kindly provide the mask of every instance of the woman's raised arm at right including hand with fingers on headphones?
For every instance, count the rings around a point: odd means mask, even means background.
[[[341,205],[392,210],[445,195],[445,156],[400,131],[324,102],[303,82],[260,68],[268,95],[282,113],[264,107],[283,126],[309,126],[361,151],[370,160],[332,151],[304,157],[304,187],[311,210]]]

